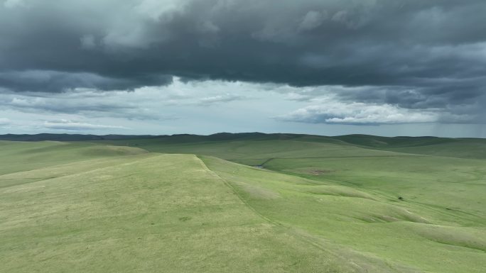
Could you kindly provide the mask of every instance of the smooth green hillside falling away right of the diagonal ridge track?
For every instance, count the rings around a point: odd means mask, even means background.
[[[376,272],[373,267],[389,272],[457,273],[479,273],[486,268],[486,215],[484,204],[476,204],[486,194],[485,182],[475,193],[449,192],[464,211],[448,211],[438,206],[443,201],[441,194],[430,190],[424,190],[431,194],[430,204],[397,201],[390,185],[378,191],[367,185],[343,185],[335,177],[317,182],[203,158],[259,213],[325,238],[323,247],[369,272]],[[434,186],[437,191],[441,185]],[[379,259],[362,260],[355,256],[356,251]]]

